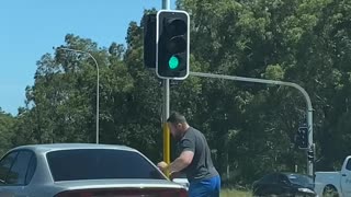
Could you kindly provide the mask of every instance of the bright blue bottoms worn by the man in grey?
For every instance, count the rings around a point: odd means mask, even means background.
[[[220,177],[214,176],[207,179],[191,182],[189,197],[219,197]]]

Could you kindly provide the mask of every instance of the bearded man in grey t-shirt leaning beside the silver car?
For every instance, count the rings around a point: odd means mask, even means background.
[[[159,162],[158,167],[170,174],[186,174],[190,197],[218,197],[220,177],[213,165],[211,151],[204,135],[189,126],[183,115],[172,113],[167,119],[172,137],[179,141],[181,153],[169,165]]]

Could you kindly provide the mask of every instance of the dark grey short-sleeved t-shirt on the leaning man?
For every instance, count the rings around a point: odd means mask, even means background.
[[[181,152],[194,152],[192,162],[182,171],[186,174],[189,182],[202,181],[218,175],[211,159],[210,147],[202,132],[189,127],[179,141],[179,148]]]

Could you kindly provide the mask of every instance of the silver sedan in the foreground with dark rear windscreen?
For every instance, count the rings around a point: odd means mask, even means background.
[[[0,160],[1,197],[185,197],[155,164],[124,146],[22,146]]]

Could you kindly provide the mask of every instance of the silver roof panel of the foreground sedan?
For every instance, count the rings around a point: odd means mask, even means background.
[[[72,150],[72,149],[113,149],[113,150],[125,150],[136,151],[133,148],[117,144],[97,144],[97,143],[43,143],[43,144],[26,144],[20,146],[12,150],[32,150],[34,152],[50,152],[59,150]],[[12,151],[11,150],[11,151]]]

